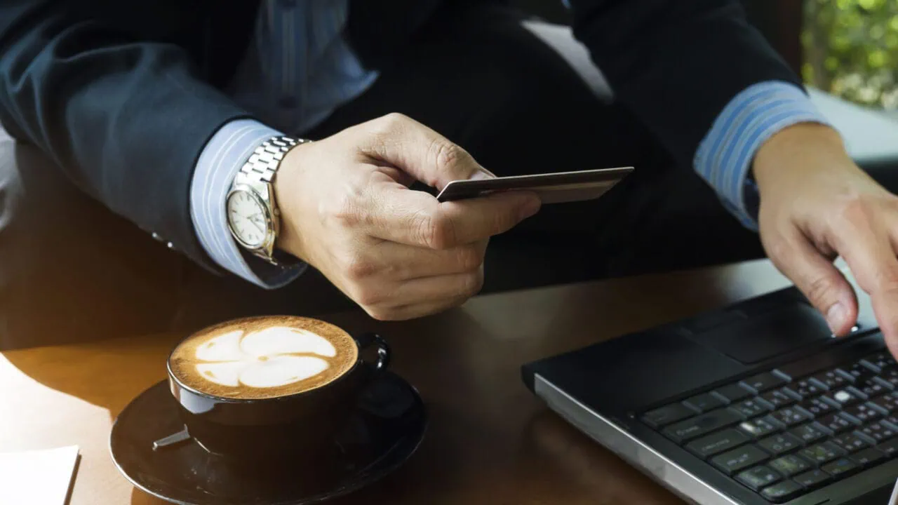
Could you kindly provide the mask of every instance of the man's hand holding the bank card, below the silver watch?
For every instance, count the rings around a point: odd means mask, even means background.
[[[439,202],[418,180],[493,177],[461,147],[401,114],[297,146],[277,173],[277,247],[308,262],[376,319],[464,303],[483,284],[491,235],[533,216],[540,199],[511,191]]]

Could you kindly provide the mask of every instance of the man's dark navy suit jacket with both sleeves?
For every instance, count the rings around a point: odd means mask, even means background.
[[[211,267],[193,232],[189,185],[207,139],[250,116],[220,89],[247,47],[259,0],[0,1],[0,122],[110,209]],[[439,4],[352,1],[350,43],[366,66],[389,66],[440,15]],[[691,165],[736,93],[767,80],[797,83],[737,0],[572,4],[577,38],[617,100],[681,164]]]

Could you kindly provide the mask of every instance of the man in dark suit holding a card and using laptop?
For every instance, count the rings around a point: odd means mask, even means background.
[[[612,105],[502,2],[5,0],[0,120],[207,268],[277,288],[311,264],[381,319],[471,297],[489,236],[540,208],[439,204],[412,182],[635,164],[595,209],[596,261],[614,262],[654,244],[666,182],[694,168],[840,334],[857,315],[841,254],[898,350],[898,199],[739,4],[569,4]]]

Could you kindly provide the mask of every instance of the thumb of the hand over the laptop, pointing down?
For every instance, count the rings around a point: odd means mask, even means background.
[[[770,246],[765,243],[770,260],[826,318],[833,334],[847,334],[858,320],[854,289],[832,261],[824,258],[803,235],[796,235],[777,238]]]

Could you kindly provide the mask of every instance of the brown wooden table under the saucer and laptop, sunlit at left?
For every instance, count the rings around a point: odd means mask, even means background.
[[[418,386],[431,419],[407,465],[334,503],[681,503],[548,411],[524,388],[519,367],[786,285],[767,261],[755,261],[477,297],[405,323],[329,317],[350,331],[383,332],[393,369]],[[166,356],[184,336],[4,352],[0,451],[77,444],[73,505],[159,503],[117,472],[108,438],[125,405],[163,380]]]

